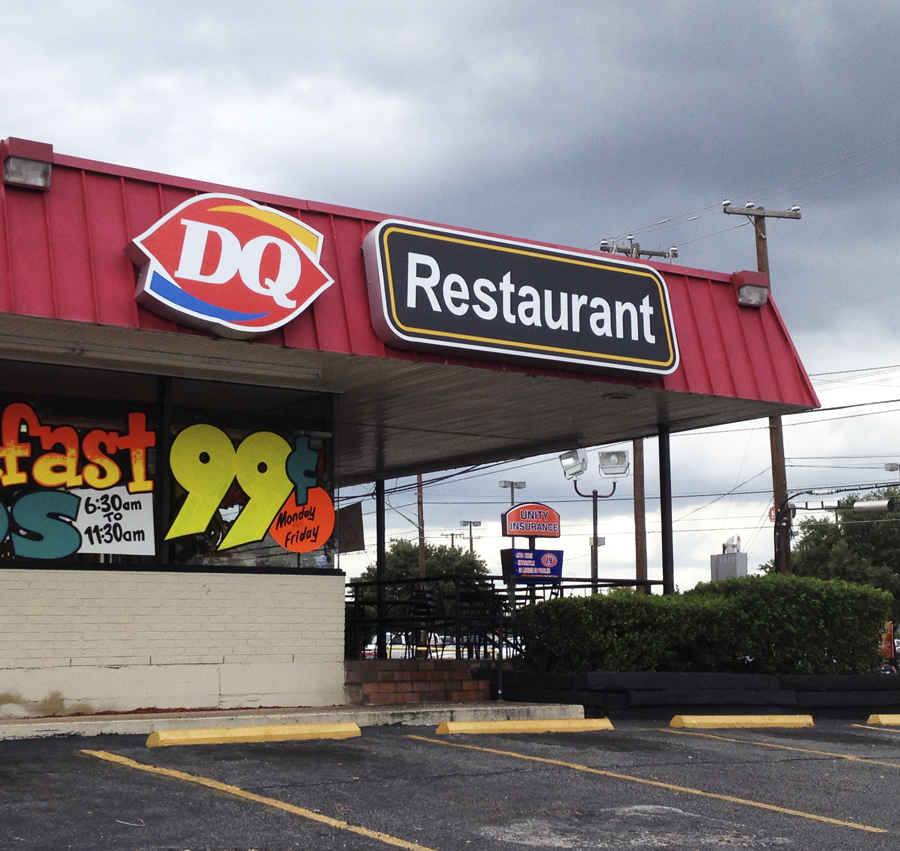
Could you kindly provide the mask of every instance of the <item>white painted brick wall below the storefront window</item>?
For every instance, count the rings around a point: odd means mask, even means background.
[[[23,704],[331,706],[343,657],[342,576],[0,568],[0,695]]]

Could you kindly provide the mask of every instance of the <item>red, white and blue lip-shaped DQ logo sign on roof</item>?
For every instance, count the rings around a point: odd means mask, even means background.
[[[185,201],[129,254],[140,304],[222,337],[280,328],[334,283],[319,262],[320,233],[233,195]]]

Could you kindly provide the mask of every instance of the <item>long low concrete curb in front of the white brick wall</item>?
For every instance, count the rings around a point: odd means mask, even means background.
[[[99,736],[108,733],[146,736],[157,730],[341,722],[358,724],[360,727],[377,727],[385,724],[436,727],[444,721],[506,721],[529,718],[584,718],[584,707],[553,703],[467,701],[465,703],[398,704],[391,708],[328,706],[16,718],[0,719],[0,740],[37,739],[48,736]]]

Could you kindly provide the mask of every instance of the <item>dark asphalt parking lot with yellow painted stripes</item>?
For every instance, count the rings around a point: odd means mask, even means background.
[[[0,848],[872,848],[900,842],[900,729],[616,729],[148,749],[0,742]]]

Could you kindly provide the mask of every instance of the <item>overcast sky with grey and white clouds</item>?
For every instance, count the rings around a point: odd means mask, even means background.
[[[900,401],[867,404],[900,399],[896,2],[3,0],[0,16],[0,138],[59,153],[580,248],[633,234],[724,272],[756,255],[723,199],[800,205],[769,221],[775,300],[823,406],[865,406],[785,419],[789,490],[896,477]],[[765,423],[672,452],[679,587],[733,534],[751,567],[771,558]],[[480,520],[495,565],[499,479],[560,510],[566,573],[584,575],[590,503],[555,458],[427,488],[429,538]],[[630,493],[603,505],[601,575],[633,570]],[[413,537],[414,494],[391,502],[389,534]]]

